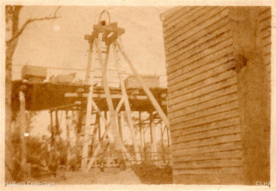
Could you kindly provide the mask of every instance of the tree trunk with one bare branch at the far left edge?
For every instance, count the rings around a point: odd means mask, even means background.
[[[12,135],[11,132],[11,120],[12,120],[12,111],[11,111],[11,91],[12,91],[12,78],[11,78],[11,65],[12,57],[18,43],[18,37],[22,34],[25,27],[33,21],[36,20],[49,20],[57,18],[56,13],[59,8],[55,11],[53,17],[38,18],[38,19],[29,19],[27,20],[22,28],[19,29],[19,13],[21,10],[21,5],[6,5],[5,6],[5,21],[6,21],[6,37],[11,36],[10,39],[6,39],[6,61],[5,61],[5,181],[13,182],[16,179],[18,170],[15,169],[16,151],[14,145],[12,145]],[[8,34],[11,33],[11,34]],[[15,132],[18,133],[18,132]],[[20,162],[20,161],[19,161]],[[20,162],[21,163],[21,162]]]

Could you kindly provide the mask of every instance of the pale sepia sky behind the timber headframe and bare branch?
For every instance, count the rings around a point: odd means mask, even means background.
[[[84,35],[91,34],[93,25],[98,23],[101,11],[106,9],[110,13],[110,22],[117,22],[118,27],[125,29],[121,37],[124,51],[138,72],[165,75],[164,40],[159,15],[169,8],[63,6],[57,13],[61,18],[36,21],[26,27],[19,38],[13,64],[85,69],[88,42],[84,40]],[[49,17],[55,9],[54,6],[24,6],[20,13],[20,26],[29,18]],[[110,52],[113,55],[113,51]],[[115,64],[112,63],[112,55],[109,68]],[[122,67],[130,72],[126,62],[122,60]],[[21,67],[14,66],[12,69],[13,80],[20,79]],[[72,72],[76,71],[51,70],[53,75]],[[84,78],[84,75],[85,71],[77,73],[78,78]],[[40,136],[48,134],[49,123],[49,112],[43,111],[34,121],[33,132],[28,133]],[[64,115],[61,119],[61,128],[65,130]],[[62,136],[65,137],[65,131]]]

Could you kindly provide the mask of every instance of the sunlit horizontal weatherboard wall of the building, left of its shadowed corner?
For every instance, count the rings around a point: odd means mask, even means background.
[[[228,7],[199,6],[178,7],[164,17],[177,184],[241,183],[241,126],[228,15]],[[229,181],[231,177],[239,180]]]

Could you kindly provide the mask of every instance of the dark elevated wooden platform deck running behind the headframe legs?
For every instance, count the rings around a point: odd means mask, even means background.
[[[53,84],[53,83],[32,83],[22,82],[21,80],[12,83],[12,110],[18,111],[20,91],[25,93],[26,110],[79,110],[81,106],[86,108],[87,94],[89,85],[84,84]],[[94,86],[93,100],[101,111],[108,111],[106,104],[104,88]],[[167,88],[150,89],[163,111],[166,111],[166,93]],[[114,107],[119,103],[121,98],[121,89],[110,87]],[[155,110],[143,89],[127,89],[131,111],[150,111]],[[81,105],[75,102],[84,102]],[[65,106],[68,105],[68,106]],[[64,106],[64,107],[63,107]],[[121,107],[120,111],[124,111]]]

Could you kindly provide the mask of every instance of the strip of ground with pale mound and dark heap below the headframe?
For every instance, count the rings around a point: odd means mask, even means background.
[[[32,181],[55,182],[59,184],[173,184],[170,167],[158,168],[155,165],[133,165],[125,171],[117,168],[91,169],[90,172],[63,171],[45,175]]]

